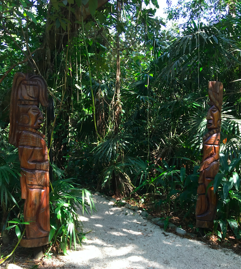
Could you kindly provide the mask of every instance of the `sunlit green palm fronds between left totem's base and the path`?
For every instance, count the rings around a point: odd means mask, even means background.
[[[78,213],[89,213],[95,209],[91,194],[82,189],[72,179],[59,178],[51,184],[49,193],[50,226],[49,241],[66,255],[67,248],[76,248],[76,240],[81,244],[84,234]]]

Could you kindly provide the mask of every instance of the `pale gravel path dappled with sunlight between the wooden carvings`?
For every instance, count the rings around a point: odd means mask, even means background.
[[[45,268],[213,269],[241,268],[241,256],[228,249],[164,232],[138,213],[94,196],[97,212],[80,217],[86,235],[82,247],[68,256],[46,259]]]

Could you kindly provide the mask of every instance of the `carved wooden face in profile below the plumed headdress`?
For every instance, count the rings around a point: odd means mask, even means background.
[[[37,105],[20,106],[20,124],[38,130],[43,123],[43,114]]]

